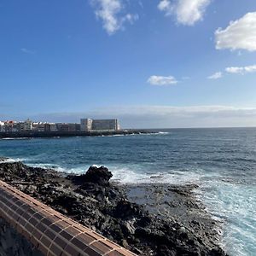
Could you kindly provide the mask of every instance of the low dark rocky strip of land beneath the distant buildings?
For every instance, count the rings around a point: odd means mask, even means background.
[[[149,130],[119,130],[119,131],[6,131],[0,132],[1,138],[19,138],[19,137],[96,137],[112,135],[133,135],[154,133]]]

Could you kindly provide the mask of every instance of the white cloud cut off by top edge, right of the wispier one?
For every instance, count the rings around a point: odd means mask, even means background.
[[[161,0],[158,9],[167,16],[176,15],[177,23],[193,26],[196,21],[202,20],[211,0]]]

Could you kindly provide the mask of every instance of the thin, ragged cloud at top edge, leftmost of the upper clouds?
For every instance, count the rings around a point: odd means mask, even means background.
[[[126,21],[132,24],[138,19],[138,15],[122,13],[125,9],[122,0],[91,0],[91,3],[96,9],[96,17],[102,20],[103,28],[109,35],[122,29]]]

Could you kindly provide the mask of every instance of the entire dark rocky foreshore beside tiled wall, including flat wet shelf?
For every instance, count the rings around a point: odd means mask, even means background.
[[[76,176],[0,158],[4,182],[138,255],[226,255],[194,186],[128,186],[111,177],[106,167]]]

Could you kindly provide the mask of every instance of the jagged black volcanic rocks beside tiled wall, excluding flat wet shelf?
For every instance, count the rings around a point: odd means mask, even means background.
[[[128,201],[125,188],[110,183],[111,177],[112,173],[103,166],[91,166],[77,176],[20,162],[0,163],[3,181],[138,255],[226,255],[207,239],[207,232],[197,236],[172,216],[159,218]]]

